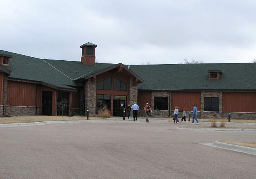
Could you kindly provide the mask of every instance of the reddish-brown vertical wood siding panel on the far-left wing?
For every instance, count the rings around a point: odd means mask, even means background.
[[[35,88],[33,83],[8,81],[7,105],[35,106]]]

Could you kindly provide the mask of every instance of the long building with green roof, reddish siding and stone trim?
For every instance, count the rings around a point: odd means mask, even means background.
[[[80,61],[48,60],[0,50],[0,116],[122,116],[128,103],[146,103],[152,116],[172,117],[175,106],[198,118],[256,119],[256,63],[124,65],[95,63],[93,43]],[[76,60],[76,59],[74,59]],[[154,110],[153,110],[154,109]]]

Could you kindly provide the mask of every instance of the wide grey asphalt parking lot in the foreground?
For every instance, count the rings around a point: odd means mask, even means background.
[[[183,124],[182,124],[183,125]],[[256,156],[199,143],[256,132],[177,131],[171,123],[0,128],[0,179],[252,179]]]

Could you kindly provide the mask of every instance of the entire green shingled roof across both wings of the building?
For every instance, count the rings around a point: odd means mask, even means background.
[[[12,78],[43,81],[61,88],[78,86],[74,80],[117,64],[83,65],[80,61],[46,60],[2,51],[12,55]],[[202,63],[169,65],[125,65],[141,77],[139,90],[256,90],[256,63]],[[221,71],[219,80],[208,80],[208,71]]]

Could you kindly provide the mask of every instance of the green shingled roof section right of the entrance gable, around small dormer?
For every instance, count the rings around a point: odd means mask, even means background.
[[[256,90],[256,63],[131,65],[141,76],[141,90]],[[223,72],[208,80],[208,70]]]

